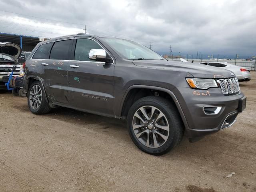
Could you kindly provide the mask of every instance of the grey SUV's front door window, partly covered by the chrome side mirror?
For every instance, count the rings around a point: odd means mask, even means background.
[[[102,49],[102,47],[97,42],[91,39],[76,40],[74,60],[92,61],[88,58],[91,49]]]

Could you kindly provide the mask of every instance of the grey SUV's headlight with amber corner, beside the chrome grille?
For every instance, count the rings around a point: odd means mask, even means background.
[[[208,89],[210,87],[218,87],[214,79],[197,79],[197,78],[186,78],[191,88]]]

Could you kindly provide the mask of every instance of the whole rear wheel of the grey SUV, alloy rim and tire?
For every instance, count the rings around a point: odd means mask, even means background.
[[[34,82],[28,90],[28,106],[34,114],[46,114],[51,110],[42,90],[43,87],[39,82]]]

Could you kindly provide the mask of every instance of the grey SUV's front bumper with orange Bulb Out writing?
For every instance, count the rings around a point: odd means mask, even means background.
[[[205,135],[218,132],[227,124],[229,118],[234,118],[229,122],[231,126],[238,114],[239,101],[244,97],[242,92],[236,95],[225,96],[220,88],[210,88],[208,90],[196,90],[190,87],[178,87],[172,90],[186,117],[188,127],[186,128],[188,138],[196,139]],[[206,114],[204,107],[221,106],[218,114]]]

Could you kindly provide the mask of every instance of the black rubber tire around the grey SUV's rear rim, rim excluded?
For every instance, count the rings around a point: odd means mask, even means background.
[[[29,109],[34,114],[46,114],[46,113],[50,112],[51,107],[49,106],[49,104],[46,100],[46,95],[44,94],[44,91],[42,91],[42,100],[41,100],[41,103],[40,103],[39,107],[37,109],[33,109],[32,106],[30,105],[30,92],[31,92],[32,88],[35,85],[38,85],[41,88],[41,90],[43,90],[43,86],[38,81],[34,82],[29,87],[29,89],[28,89],[28,106],[29,106]]]

